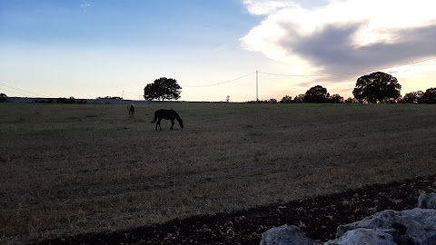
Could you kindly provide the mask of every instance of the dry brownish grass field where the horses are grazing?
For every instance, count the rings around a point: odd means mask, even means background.
[[[154,111],[184,122],[155,132]],[[125,230],[436,173],[436,106],[0,103],[0,243]]]

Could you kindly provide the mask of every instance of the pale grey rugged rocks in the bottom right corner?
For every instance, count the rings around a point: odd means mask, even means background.
[[[296,226],[267,230],[261,245],[434,245],[436,244],[436,194],[421,194],[418,208],[380,211],[363,220],[340,225],[336,240],[324,243],[304,236]]]

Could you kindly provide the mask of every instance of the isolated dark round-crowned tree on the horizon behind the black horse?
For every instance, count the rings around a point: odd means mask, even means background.
[[[173,78],[161,77],[148,83],[144,88],[145,100],[178,100],[182,87]]]

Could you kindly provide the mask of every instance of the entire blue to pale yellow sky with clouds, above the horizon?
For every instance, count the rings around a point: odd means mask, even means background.
[[[183,101],[280,101],[315,85],[348,98],[378,71],[402,95],[425,91],[436,86],[434,9],[434,0],[0,0],[0,93],[138,100],[168,77]]]

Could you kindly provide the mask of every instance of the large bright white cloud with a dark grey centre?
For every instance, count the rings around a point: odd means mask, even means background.
[[[306,9],[296,1],[243,0],[264,15],[243,47],[291,64],[292,73],[352,73],[436,55],[436,1],[343,0]]]

